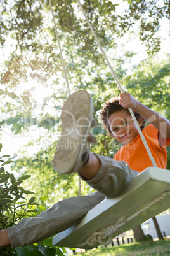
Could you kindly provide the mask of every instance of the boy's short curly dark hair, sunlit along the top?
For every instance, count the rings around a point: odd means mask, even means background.
[[[108,99],[104,106],[103,106],[103,110],[101,111],[101,121],[103,123],[103,127],[105,129],[107,129],[108,134],[111,137],[114,137],[114,135],[112,134],[112,131],[110,129],[110,126],[108,124],[108,118],[110,117],[110,115],[112,115],[112,113],[115,113],[117,111],[127,111],[129,114],[129,110],[126,110],[125,108],[123,108],[123,106],[121,106],[119,104],[119,97],[112,97],[111,99]],[[139,117],[141,117],[141,115],[137,112],[133,112],[136,119],[138,120]],[[143,130],[143,128],[145,127],[145,119],[142,117],[143,119],[143,124],[141,125],[141,130]]]

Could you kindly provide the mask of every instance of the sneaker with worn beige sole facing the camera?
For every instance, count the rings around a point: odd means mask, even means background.
[[[55,171],[79,171],[89,159],[87,141],[93,118],[93,101],[86,90],[74,92],[62,108],[62,134],[53,158]]]

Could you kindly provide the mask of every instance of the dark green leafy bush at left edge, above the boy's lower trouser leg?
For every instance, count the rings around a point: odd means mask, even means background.
[[[5,156],[1,157],[3,159]],[[23,180],[26,180],[30,175],[23,175],[16,180],[15,176],[8,171],[4,170],[4,165],[9,164],[11,161],[1,160],[1,229],[6,229],[15,225],[22,218],[28,217],[33,213],[37,213],[34,203],[35,196],[31,197],[29,202],[26,203],[27,199],[23,194],[29,195],[34,194],[21,187]]]

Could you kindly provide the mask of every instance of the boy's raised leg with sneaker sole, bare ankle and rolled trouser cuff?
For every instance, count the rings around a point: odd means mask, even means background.
[[[93,118],[93,101],[85,90],[72,94],[62,109],[62,135],[53,166],[59,173],[76,171],[93,188],[114,197],[136,176],[126,162],[91,153],[87,138]]]

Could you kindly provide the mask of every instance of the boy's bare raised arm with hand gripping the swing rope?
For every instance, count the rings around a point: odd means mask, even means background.
[[[119,102],[124,108],[131,108],[154,125],[159,131],[159,140],[170,138],[170,122],[167,118],[143,105],[129,93],[120,94]]]

